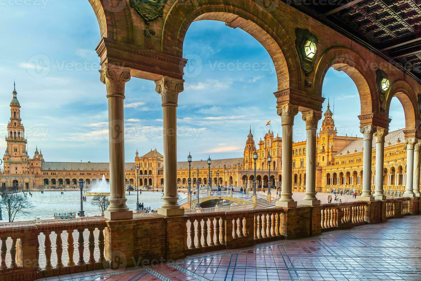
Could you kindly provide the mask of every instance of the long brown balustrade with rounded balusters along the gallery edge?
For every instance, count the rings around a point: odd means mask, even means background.
[[[420,197],[192,213],[0,224],[0,278],[32,280],[148,265],[189,254],[295,239],[420,213]]]

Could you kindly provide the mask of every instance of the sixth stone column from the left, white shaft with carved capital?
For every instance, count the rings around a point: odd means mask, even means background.
[[[376,136],[376,188],[374,190],[375,200],[384,200],[386,196],[383,194],[383,177],[384,177],[384,137],[389,133],[388,129],[377,128],[374,136]]]

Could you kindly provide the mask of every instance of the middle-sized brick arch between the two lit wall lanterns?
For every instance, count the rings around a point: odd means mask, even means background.
[[[376,74],[369,64],[357,53],[344,47],[327,50],[315,68],[314,93],[321,96],[323,80],[330,67],[344,71],[355,83],[360,96],[361,115],[378,113]]]

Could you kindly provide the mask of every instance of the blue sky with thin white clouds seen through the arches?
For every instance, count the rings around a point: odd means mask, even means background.
[[[94,51],[99,27],[91,5],[86,0],[11,2],[0,4],[0,133],[6,134],[16,79],[29,155],[38,146],[46,161],[107,162],[107,98],[99,81]],[[194,160],[242,157],[249,127],[258,142],[268,120],[274,134],[281,134],[274,66],[253,37],[221,22],[197,21],[187,32],[184,57],[189,63],[185,90],[179,95],[179,161],[186,160],[189,151]],[[126,161],[133,161],[136,149],[140,154],[151,148],[162,152],[162,107],[155,84],[132,78],[125,95]],[[361,136],[353,81],[331,69],[323,96],[330,99],[332,110],[334,99],[338,132]],[[402,114],[394,98],[390,117]],[[391,130],[404,127],[399,119],[392,120]],[[300,113],[295,124],[294,141],[305,139]],[[5,149],[4,139],[1,147]]]

